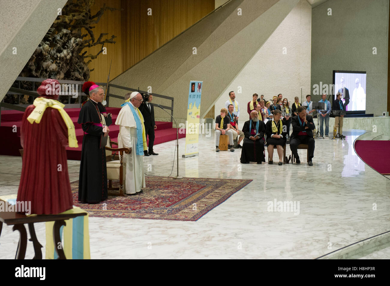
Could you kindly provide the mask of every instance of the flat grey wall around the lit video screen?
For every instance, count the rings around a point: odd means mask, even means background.
[[[388,0],[328,0],[313,8],[312,90],[320,81],[332,84],[333,70],[366,71],[366,113],[382,115],[387,102],[388,17]]]

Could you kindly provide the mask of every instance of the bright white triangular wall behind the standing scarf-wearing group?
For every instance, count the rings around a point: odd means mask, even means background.
[[[282,94],[291,103],[294,97],[310,93],[311,6],[300,0],[282,23],[255,53],[215,102],[215,115],[234,91],[240,105],[240,126],[249,119],[247,104],[252,94],[264,99]],[[285,48],[285,50],[284,50]],[[283,53],[285,51],[285,53]],[[238,93],[238,87],[242,93]]]

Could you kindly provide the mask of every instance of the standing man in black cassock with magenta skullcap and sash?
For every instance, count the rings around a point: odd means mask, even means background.
[[[93,87],[96,88],[92,86],[91,90]],[[83,203],[99,203],[107,199],[105,146],[100,146],[104,132],[98,106],[98,102],[102,102],[103,97],[104,91],[99,88],[85,102],[77,121],[78,124],[82,124],[84,131],[78,181],[78,200]]]

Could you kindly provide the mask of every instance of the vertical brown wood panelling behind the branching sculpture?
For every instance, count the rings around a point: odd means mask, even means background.
[[[121,11],[106,11],[93,29],[95,37],[100,33],[117,36],[115,44],[105,44],[107,54],[100,54],[89,64],[94,71],[91,81],[107,81],[112,60],[110,80],[137,64],[163,44],[176,37],[191,25],[214,10],[214,0],[96,0],[91,8],[95,14],[104,4]],[[152,15],[148,16],[148,8]],[[101,45],[87,49],[96,53]],[[132,87],[137,88],[137,87]]]

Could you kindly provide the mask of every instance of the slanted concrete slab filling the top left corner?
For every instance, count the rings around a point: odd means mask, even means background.
[[[0,2],[0,101],[57,18],[67,0]],[[16,48],[16,54],[12,53]]]

